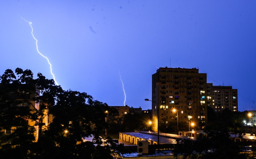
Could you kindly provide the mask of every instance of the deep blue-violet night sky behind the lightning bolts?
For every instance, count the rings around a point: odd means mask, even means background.
[[[256,1],[1,1],[0,74],[17,67],[87,92],[110,106],[151,109],[157,67],[199,68],[238,89],[239,111],[256,90]],[[120,75],[119,75],[120,72]]]

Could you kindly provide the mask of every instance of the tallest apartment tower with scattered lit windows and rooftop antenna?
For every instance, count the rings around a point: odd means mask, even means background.
[[[152,75],[152,101],[158,104],[159,123],[207,121],[207,76],[197,68],[159,68]],[[157,104],[152,102],[153,130],[157,131]],[[177,110],[173,112],[173,109]],[[178,115],[177,115],[178,112]]]

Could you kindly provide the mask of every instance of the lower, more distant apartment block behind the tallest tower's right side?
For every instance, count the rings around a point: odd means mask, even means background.
[[[237,89],[232,86],[214,86],[207,83],[208,106],[215,112],[221,113],[225,108],[231,111],[238,111]]]

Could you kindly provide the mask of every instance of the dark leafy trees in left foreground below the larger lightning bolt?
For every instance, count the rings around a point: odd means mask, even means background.
[[[40,73],[33,79],[30,70],[8,69],[0,80],[0,158],[120,158],[116,150],[125,151],[99,135],[108,128],[105,112],[115,113],[106,103]]]

